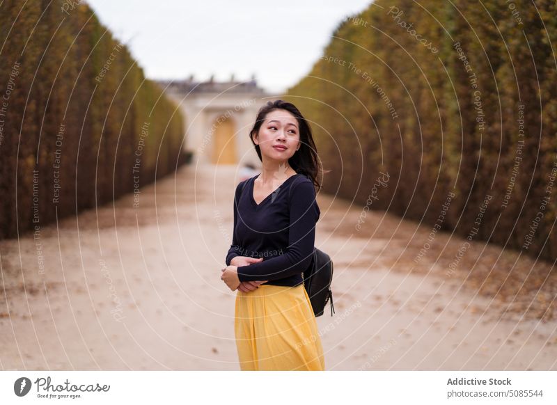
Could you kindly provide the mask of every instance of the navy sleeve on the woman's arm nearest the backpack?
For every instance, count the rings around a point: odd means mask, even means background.
[[[285,253],[238,267],[240,281],[278,280],[305,271],[311,263],[315,248],[315,223],[319,216],[313,183],[304,181],[293,184],[290,190],[290,226]]]

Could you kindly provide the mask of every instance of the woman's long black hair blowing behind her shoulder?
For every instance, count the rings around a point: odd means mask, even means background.
[[[267,114],[275,110],[285,110],[295,116],[298,121],[299,134],[300,134],[300,148],[294,155],[288,159],[288,164],[296,170],[296,173],[301,173],[310,178],[313,185],[317,188],[317,191],[321,189],[321,182],[318,180],[317,175],[320,174],[322,168],[320,166],[319,159],[317,157],[317,148],[315,148],[315,142],[313,142],[313,136],[311,134],[311,127],[306,118],[301,115],[299,109],[290,102],[285,102],[284,100],[276,100],[274,102],[267,102],[264,106],[259,109],[257,114],[256,123],[249,132],[249,138],[251,143],[256,148],[257,155],[260,161],[263,161],[261,157],[261,150],[259,145],[253,142],[253,135],[259,133],[259,129],[265,121]]]

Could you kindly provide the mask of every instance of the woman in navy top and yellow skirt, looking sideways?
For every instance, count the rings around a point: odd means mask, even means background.
[[[250,132],[261,173],[237,185],[221,280],[233,291],[242,370],[324,370],[301,273],[311,264],[320,170],[311,129],[289,102],[267,102]]]

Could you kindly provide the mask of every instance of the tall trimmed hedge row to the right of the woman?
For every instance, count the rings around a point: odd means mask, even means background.
[[[377,0],[346,17],[288,90],[338,168],[324,190],[555,260],[556,15],[549,0]]]

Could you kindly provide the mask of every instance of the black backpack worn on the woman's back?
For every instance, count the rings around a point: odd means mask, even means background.
[[[242,190],[247,181],[242,184]],[[304,288],[309,296],[313,315],[320,317],[323,315],[325,305],[331,300],[331,317],[335,312],[333,305],[333,292],[331,291],[331,282],[333,281],[333,261],[331,257],[318,248],[314,248],[311,257],[311,263],[306,271],[301,273],[304,278]]]

